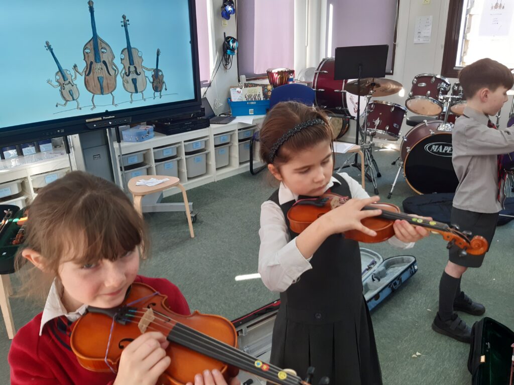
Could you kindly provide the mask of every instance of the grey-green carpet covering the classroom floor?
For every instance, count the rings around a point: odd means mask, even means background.
[[[391,162],[398,152],[374,151],[382,177],[378,188],[383,201],[397,204],[414,195],[401,177],[393,192],[387,194],[397,167]],[[339,160],[346,157],[339,157]],[[348,170],[348,169],[347,169]],[[358,170],[347,172],[360,180]],[[436,176],[427,176],[436,178]],[[479,186],[477,186],[479,187]],[[183,213],[146,214],[152,239],[152,257],[141,273],[168,278],[178,285],[192,310],[234,319],[278,298],[260,280],[238,281],[236,275],[257,271],[260,205],[274,187],[265,172],[248,172],[188,191],[198,220],[193,225],[195,238],[189,237]],[[372,192],[366,181],[366,190]],[[175,195],[166,201],[180,201]],[[486,316],[514,329],[512,293],[512,224],[501,226],[481,268],[470,269],[462,288],[485,304]],[[471,382],[466,369],[469,345],[433,332],[430,324],[437,309],[439,278],[447,261],[446,243],[431,235],[413,249],[402,251],[381,244],[363,245],[382,255],[414,255],[418,272],[372,312],[384,384],[456,384]],[[13,277],[15,281],[15,277]],[[337,298],[334,298],[337,300]],[[14,321],[19,328],[42,310],[42,305],[12,298]],[[462,316],[468,324],[480,317]],[[512,341],[514,342],[514,341]],[[8,383],[7,353],[10,341],[0,321],[0,383]],[[413,355],[420,353],[416,358]]]

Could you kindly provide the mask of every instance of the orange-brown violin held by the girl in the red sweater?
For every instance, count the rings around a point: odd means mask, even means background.
[[[159,384],[194,383],[195,374],[205,369],[217,369],[227,380],[242,369],[278,385],[308,384],[237,349],[237,333],[226,318],[198,312],[176,314],[164,304],[166,298],[151,286],[135,282],[120,306],[89,306],[70,337],[71,349],[82,367],[116,373],[128,343],[146,331],[159,331],[171,342],[166,349],[171,363],[159,377]]]

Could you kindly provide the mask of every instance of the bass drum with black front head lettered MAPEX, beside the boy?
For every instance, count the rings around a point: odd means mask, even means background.
[[[400,154],[403,175],[417,194],[455,192],[458,179],[453,169],[452,135],[438,130],[440,120],[413,127],[403,137]]]

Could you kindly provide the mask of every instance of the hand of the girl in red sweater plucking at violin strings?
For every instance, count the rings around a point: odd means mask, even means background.
[[[141,334],[123,349],[114,385],[155,385],[171,363],[169,344],[162,333]]]

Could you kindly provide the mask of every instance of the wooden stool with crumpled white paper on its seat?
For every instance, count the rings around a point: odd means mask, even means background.
[[[159,183],[155,186],[137,186],[137,181],[143,179],[143,180],[149,180],[149,179],[166,179],[168,178],[169,181]],[[131,178],[130,181],[128,181],[128,190],[131,192],[133,198],[134,198],[134,207],[136,208],[136,211],[142,216],[143,215],[143,208],[141,204],[141,200],[145,195],[153,194],[154,192],[160,192],[163,190],[167,190],[171,187],[178,187],[182,190],[182,198],[184,200],[184,204],[186,205],[186,216],[188,217],[188,224],[189,224],[189,234],[191,235],[191,238],[194,238],[194,232],[193,232],[193,222],[191,221],[191,213],[189,210],[189,202],[188,202],[188,196],[186,195],[186,189],[184,186],[180,184],[180,179],[176,177],[168,177],[165,175],[149,175],[146,177],[134,177]]]

